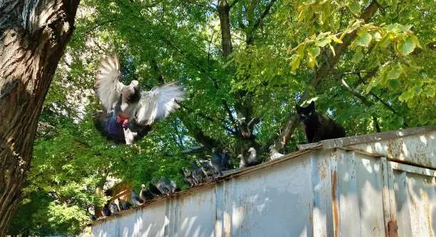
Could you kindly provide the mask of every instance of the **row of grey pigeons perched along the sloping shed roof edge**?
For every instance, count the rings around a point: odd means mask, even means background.
[[[271,153],[269,159],[277,159],[284,154],[275,152],[274,147],[271,147]],[[239,154],[239,168],[251,167],[256,164],[261,164],[262,158],[257,155],[256,149],[251,147],[248,149],[248,154],[244,157]],[[191,167],[182,167],[180,173],[184,177],[184,181],[191,188],[199,184],[204,184],[217,180],[223,176],[223,172],[230,169],[234,169],[232,159],[229,152],[223,149],[221,152],[218,149],[212,149],[212,156],[209,159],[196,159],[191,161]],[[112,216],[118,214],[120,211],[132,209],[135,206],[147,204],[148,202],[156,199],[160,196],[169,196],[175,192],[180,191],[175,181],[166,177],[160,179],[154,178],[147,184],[142,184],[139,194],[135,192],[135,189],[130,189],[130,196],[119,195],[115,199],[110,199],[105,206],[103,206],[102,216]],[[126,197],[127,196],[127,197]],[[95,216],[95,210],[88,209],[89,216],[92,220],[97,219]]]

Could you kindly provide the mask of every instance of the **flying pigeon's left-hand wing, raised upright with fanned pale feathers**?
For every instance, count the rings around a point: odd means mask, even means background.
[[[108,112],[115,107],[124,88],[124,84],[120,83],[120,75],[118,56],[106,56],[101,60],[95,75],[95,93]]]

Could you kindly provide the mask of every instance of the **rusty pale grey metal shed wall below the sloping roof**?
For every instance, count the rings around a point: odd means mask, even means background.
[[[422,134],[402,139],[413,157]],[[92,236],[435,236],[435,169],[397,161],[318,146],[95,221]]]

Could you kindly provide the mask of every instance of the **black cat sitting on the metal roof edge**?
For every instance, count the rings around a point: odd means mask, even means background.
[[[315,111],[315,102],[312,101],[307,107],[296,105],[295,108],[304,124],[308,143],[346,136],[342,125],[338,125],[331,118],[326,118]]]

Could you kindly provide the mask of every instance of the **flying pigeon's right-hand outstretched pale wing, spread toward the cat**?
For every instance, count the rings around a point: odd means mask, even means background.
[[[185,100],[184,94],[182,86],[177,83],[167,83],[150,91],[143,91],[137,105],[137,124],[150,125],[165,119],[180,107],[177,102]]]

